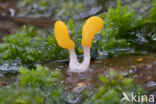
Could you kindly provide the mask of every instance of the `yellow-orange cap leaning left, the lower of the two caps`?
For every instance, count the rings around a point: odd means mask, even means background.
[[[69,31],[64,22],[58,20],[55,22],[55,37],[60,47],[65,49],[74,49],[75,43],[69,37]]]

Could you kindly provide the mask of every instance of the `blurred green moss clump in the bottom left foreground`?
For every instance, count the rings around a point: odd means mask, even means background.
[[[36,69],[20,68],[19,80],[0,88],[1,104],[64,104],[68,93],[62,85],[59,70],[50,71],[37,65]]]

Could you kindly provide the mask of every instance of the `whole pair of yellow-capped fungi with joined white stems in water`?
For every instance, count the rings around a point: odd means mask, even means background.
[[[68,49],[70,54],[69,69],[72,72],[84,72],[90,64],[90,47],[97,32],[104,26],[104,21],[97,16],[90,17],[82,28],[83,62],[79,63],[75,53],[75,43],[70,39],[70,33],[64,22],[55,23],[55,37],[60,47]]]

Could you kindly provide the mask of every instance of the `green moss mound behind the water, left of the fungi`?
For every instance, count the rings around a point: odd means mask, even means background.
[[[7,35],[0,44],[0,58],[3,60],[20,58],[24,64],[62,59],[67,57],[56,43],[53,35],[40,35],[34,27],[22,27],[14,35]],[[46,53],[46,54],[45,54]]]

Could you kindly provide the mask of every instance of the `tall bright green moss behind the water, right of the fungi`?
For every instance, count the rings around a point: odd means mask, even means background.
[[[128,6],[121,7],[118,0],[115,9],[110,7],[107,13],[100,15],[105,20],[105,27],[101,31],[102,39],[99,40],[101,53],[121,56],[154,51],[156,49],[154,10],[155,4],[148,16],[143,17]]]

